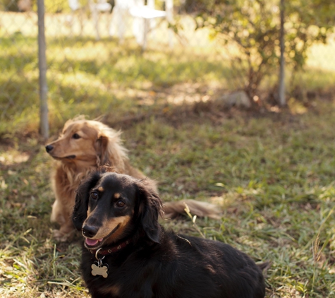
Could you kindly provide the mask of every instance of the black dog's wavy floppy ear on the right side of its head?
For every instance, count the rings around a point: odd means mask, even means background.
[[[160,226],[158,217],[163,216],[163,204],[154,181],[144,179],[138,182],[138,219],[147,237],[159,243]]]

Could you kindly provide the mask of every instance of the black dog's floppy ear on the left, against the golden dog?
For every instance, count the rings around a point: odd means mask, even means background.
[[[80,231],[83,227],[83,222],[87,217],[88,201],[90,198],[90,189],[92,189],[99,179],[101,178],[100,172],[90,174],[83,180],[75,195],[75,205],[73,207],[72,221],[75,228]]]

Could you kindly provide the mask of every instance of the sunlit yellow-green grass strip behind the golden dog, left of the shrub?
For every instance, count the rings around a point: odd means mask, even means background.
[[[16,43],[11,42],[12,38]],[[148,96],[164,107],[167,98],[174,102],[173,97],[180,97],[180,92],[169,94],[167,88],[179,84],[184,93],[183,89],[187,92],[188,88],[187,85],[183,88],[185,83],[196,83],[203,88],[207,83],[219,85],[221,81],[223,86],[222,80],[229,73],[224,61],[209,59],[208,54],[193,56],[190,49],[183,52],[177,49],[174,53],[164,49],[148,50],[141,54],[135,45],[120,46],[114,40],[96,42],[89,37],[79,40],[55,37],[47,39],[47,43],[51,122],[64,121],[75,114],[98,117],[116,107],[120,117],[137,114],[142,107],[138,99]],[[0,75],[3,81],[0,105],[1,117],[7,121],[1,122],[0,132],[36,131],[38,124],[34,119],[39,117],[39,88],[37,56],[33,52],[37,52],[37,40],[20,34],[16,39],[14,35],[4,40],[4,49],[6,56],[2,56],[2,60],[6,68]],[[195,93],[199,93],[197,88]],[[182,96],[178,102],[190,96]],[[128,104],[120,105],[121,101]],[[80,102],[87,103],[83,105],[85,109],[78,111],[73,105]]]

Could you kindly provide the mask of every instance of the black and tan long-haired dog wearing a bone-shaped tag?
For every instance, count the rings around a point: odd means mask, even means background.
[[[261,298],[262,271],[228,244],[166,232],[150,179],[99,169],[78,189],[81,270],[93,298]]]

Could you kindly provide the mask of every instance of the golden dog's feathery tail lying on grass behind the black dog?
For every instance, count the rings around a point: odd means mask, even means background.
[[[190,209],[191,215],[197,215],[197,217],[211,217],[214,219],[221,218],[221,210],[219,206],[212,203],[195,201],[195,200],[181,200],[175,202],[164,203],[164,218],[173,218],[178,215],[185,215],[186,206]]]

